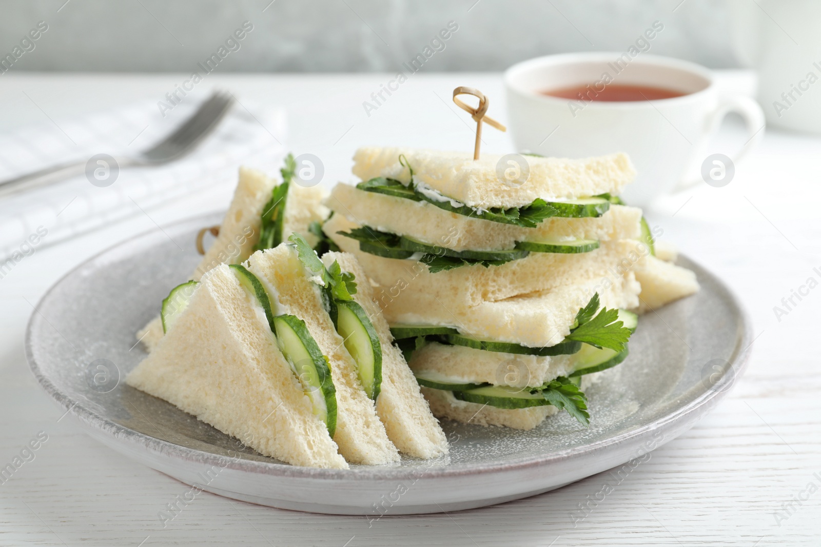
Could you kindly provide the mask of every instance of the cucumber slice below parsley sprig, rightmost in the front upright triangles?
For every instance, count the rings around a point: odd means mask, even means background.
[[[376,400],[382,385],[382,344],[368,314],[353,300],[337,299],[337,332],[356,362],[365,393]]]

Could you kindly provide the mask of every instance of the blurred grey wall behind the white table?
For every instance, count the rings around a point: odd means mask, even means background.
[[[48,31],[13,71],[191,71],[243,21],[218,71],[395,71],[459,29],[424,71],[499,71],[553,52],[626,50],[661,21],[651,52],[737,66],[721,0],[0,0],[0,57]]]

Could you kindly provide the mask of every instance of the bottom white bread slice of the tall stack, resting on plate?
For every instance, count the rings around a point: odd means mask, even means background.
[[[581,377],[581,389],[590,384],[588,374]],[[495,408],[490,405],[468,403],[453,396],[452,392],[433,390],[423,387],[424,398],[428,399],[433,416],[449,418],[461,423],[473,423],[478,426],[504,426],[513,429],[531,430],[544,422],[544,418],[558,413],[553,405],[530,408]]]

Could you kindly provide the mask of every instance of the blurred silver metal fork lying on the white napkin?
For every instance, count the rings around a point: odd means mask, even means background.
[[[117,165],[120,167],[158,166],[184,156],[217,127],[231,109],[234,100],[231,93],[222,91],[213,93],[200,105],[197,112],[194,112],[172,134],[135,156],[116,157]],[[65,180],[70,176],[80,175],[85,171],[85,165],[85,161],[66,162],[13,179],[2,180],[0,181],[0,195],[16,194]]]

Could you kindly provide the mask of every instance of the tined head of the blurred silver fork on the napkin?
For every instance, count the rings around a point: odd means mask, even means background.
[[[214,92],[177,130],[145,150],[143,157],[149,162],[163,162],[188,152],[218,125],[233,103],[231,93]]]

